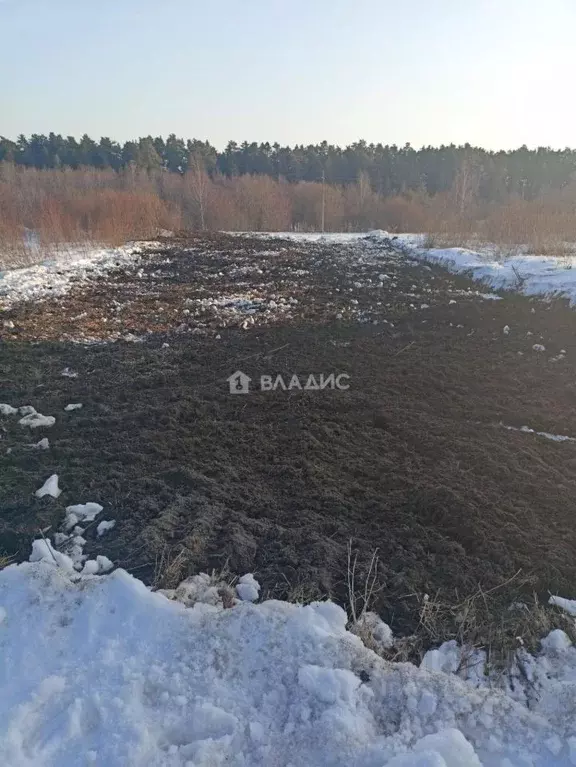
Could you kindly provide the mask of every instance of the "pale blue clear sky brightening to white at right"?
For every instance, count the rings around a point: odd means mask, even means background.
[[[0,135],[576,146],[576,0],[0,0]]]

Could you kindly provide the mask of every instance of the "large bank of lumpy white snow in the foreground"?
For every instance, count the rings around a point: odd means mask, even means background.
[[[527,666],[529,710],[382,660],[331,602],[186,607],[102,574],[105,558],[77,573],[40,540],[30,560],[0,572],[0,764],[567,767],[576,753],[562,632]]]

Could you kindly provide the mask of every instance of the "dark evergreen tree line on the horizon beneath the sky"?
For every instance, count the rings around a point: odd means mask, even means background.
[[[384,197],[418,192],[437,195],[461,190],[461,202],[473,189],[483,202],[512,197],[535,200],[562,190],[576,178],[576,150],[548,147],[487,151],[469,144],[422,147],[410,144],[368,144],[347,147],[328,144],[293,147],[230,141],[219,152],[207,141],[146,136],[119,143],[95,141],[87,134],[77,140],[50,133],[21,135],[16,141],[0,137],[0,162],[25,168],[95,168],[123,171],[166,171],[184,175],[201,167],[212,179],[244,175],[269,176],[291,183],[320,182],[335,186],[364,183]]]

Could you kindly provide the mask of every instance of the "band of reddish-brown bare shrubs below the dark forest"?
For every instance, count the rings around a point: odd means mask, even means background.
[[[264,175],[210,176],[191,156],[184,174],[130,166],[38,170],[0,163],[0,267],[26,263],[40,245],[116,245],[158,230],[426,232],[430,244],[528,246],[565,253],[576,242],[576,187],[539,198],[482,202],[478,176],[463,164],[447,193],[384,197],[366,174],[356,184],[288,183]],[[324,210],[323,210],[324,208]],[[324,213],[324,215],[323,215]]]

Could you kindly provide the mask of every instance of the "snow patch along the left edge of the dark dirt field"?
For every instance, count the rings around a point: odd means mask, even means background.
[[[72,286],[135,262],[157,243],[131,243],[120,248],[61,248],[43,263],[2,273],[0,309],[21,301],[62,296]]]

